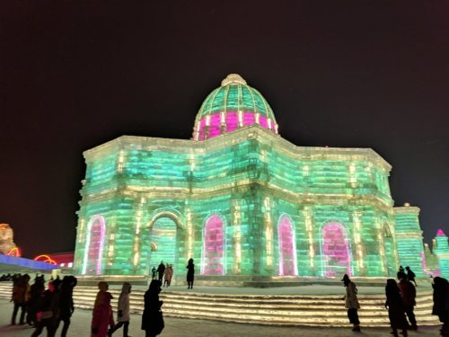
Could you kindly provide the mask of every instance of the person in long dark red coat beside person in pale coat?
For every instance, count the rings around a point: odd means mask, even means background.
[[[106,337],[108,326],[113,327],[115,325],[112,307],[110,306],[112,295],[108,292],[108,283],[101,281],[98,283],[98,288],[100,291],[97,293],[93,305],[91,331],[92,337]]]

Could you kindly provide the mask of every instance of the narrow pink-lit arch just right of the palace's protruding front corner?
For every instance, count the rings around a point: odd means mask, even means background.
[[[281,216],[277,222],[277,238],[279,241],[279,275],[296,276],[298,268],[295,231],[290,218],[286,215]]]

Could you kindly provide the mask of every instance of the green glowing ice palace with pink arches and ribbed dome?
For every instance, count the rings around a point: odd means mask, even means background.
[[[84,152],[78,275],[238,281],[449,276],[447,236],[423,245],[419,208],[393,207],[392,166],[371,148],[296,146],[269,103],[228,75],[191,139],[122,136]]]

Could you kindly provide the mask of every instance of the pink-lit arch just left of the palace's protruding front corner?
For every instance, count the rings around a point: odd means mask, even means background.
[[[224,275],[225,235],[224,222],[219,216],[211,216],[206,220],[203,234],[203,261],[201,274]]]

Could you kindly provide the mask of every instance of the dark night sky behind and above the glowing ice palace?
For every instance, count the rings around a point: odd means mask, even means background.
[[[0,222],[25,256],[74,249],[84,150],[189,138],[229,73],[295,145],[374,148],[427,241],[449,230],[449,2],[270,3],[0,3]]]

